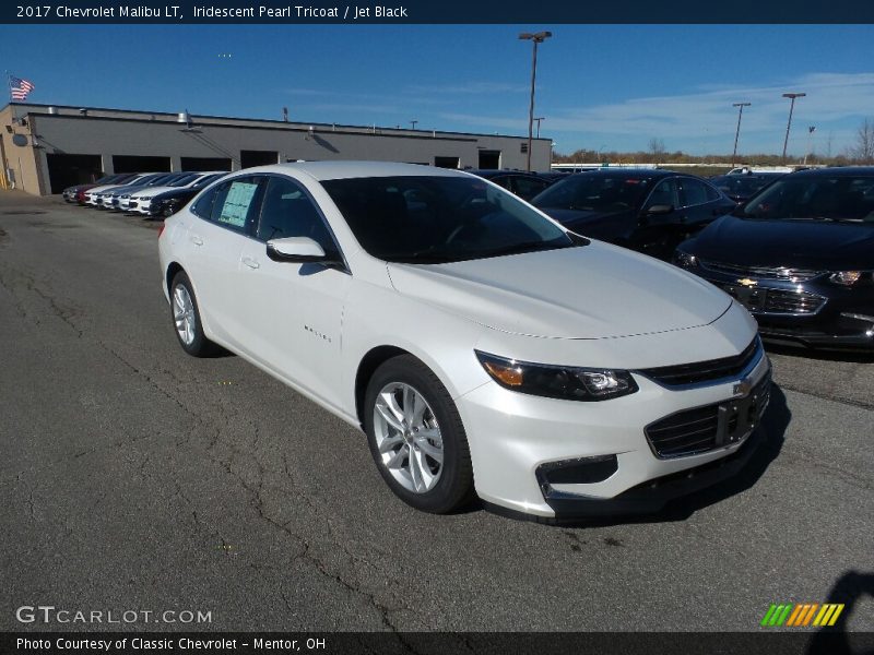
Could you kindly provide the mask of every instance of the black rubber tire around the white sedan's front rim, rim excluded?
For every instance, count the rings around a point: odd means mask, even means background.
[[[391,382],[401,382],[415,389],[428,403],[440,426],[444,449],[442,471],[434,489],[425,493],[413,493],[401,486],[382,464],[377,449],[374,428],[376,398],[377,394]],[[400,356],[389,359],[376,370],[365,394],[364,420],[367,442],[377,469],[391,490],[405,503],[417,510],[442,514],[471,500],[473,474],[461,417],[449,392],[422,361],[413,356]]]

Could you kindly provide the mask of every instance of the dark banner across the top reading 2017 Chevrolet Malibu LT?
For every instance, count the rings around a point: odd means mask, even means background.
[[[874,23],[866,0],[59,0],[2,3],[7,24]]]

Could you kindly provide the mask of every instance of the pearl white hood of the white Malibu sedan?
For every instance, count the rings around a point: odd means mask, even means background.
[[[604,338],[696,327],[731,299],[651,258],[589,246],[449,264],[388,264],[394,288],[494,330]]]

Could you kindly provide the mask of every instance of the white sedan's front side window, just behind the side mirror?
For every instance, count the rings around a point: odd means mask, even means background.
[[[258,238],[269,241],[283,237],[309,237],[324,252],[336,251],[331,233],[306,192],[288,178],[269,177],[261,203]]]

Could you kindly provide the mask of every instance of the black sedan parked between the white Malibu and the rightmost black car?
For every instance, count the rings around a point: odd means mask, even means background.
[[[578,234],[661,259],[736,205],[700,178],[657,169],[578,172],[531,202]]]

